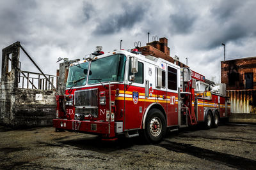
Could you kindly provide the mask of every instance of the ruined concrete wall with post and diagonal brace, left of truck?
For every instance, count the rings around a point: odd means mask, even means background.
[[[20,69],[20,49],[40,73]],[[52,125],[57,77],[44,74],[20,42],[4,48],[2,54],[0,124],[12,127]]]

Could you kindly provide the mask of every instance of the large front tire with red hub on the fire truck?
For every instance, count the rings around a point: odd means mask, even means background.
[[[148,112],[143,134],[148,143],[159,143],[166,133],[166,120],[160,110],[152,109]]]

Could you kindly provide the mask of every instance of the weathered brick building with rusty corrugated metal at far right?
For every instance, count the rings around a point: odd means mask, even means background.
[[[232,113],[256,112],[256,57],[221,61],[221,83],[227,84]]]

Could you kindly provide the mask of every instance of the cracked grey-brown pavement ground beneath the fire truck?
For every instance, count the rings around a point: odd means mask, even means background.
[[[101,141],[53,127],[0,127],[0,169],[255,169],[256,126],[182,129],[158,145]]]

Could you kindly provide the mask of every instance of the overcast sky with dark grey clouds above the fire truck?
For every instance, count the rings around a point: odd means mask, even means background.
[[[256,56],[256,1],[0,1],[0,48],[15,41],[47,74],[58,57],[82,59],[95,46],[105,52],[147,43],[147,32],[166,37],[170,55],[220,81],[220,61]],[[36,71],[21,54],[22,70]],[[1,64],[1,61],[0,61]]]

